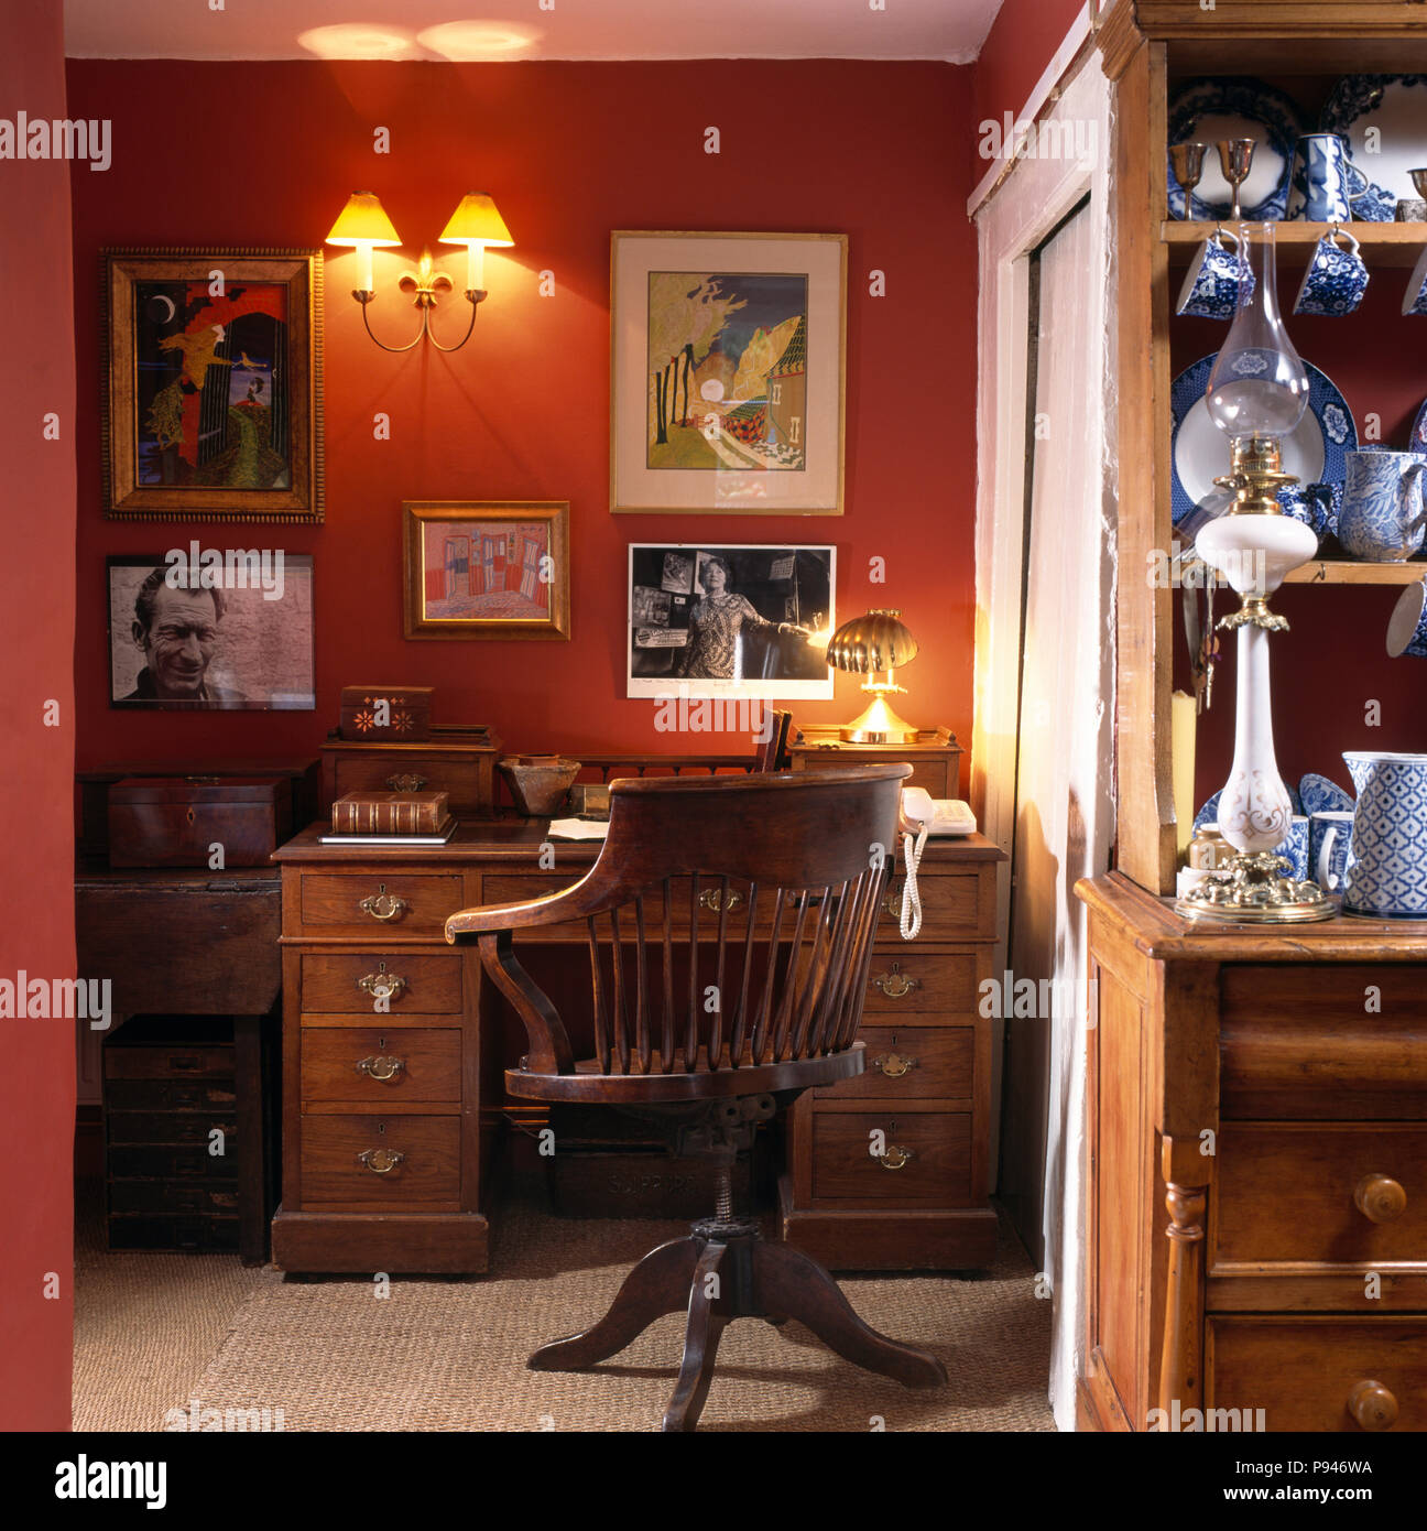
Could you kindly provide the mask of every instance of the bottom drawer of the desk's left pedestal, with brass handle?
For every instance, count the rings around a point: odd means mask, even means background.
[[[364,1164],[360,1154],[371,1154]],[[397,1156],[395,1162],[383,1154]],[[390,1162],[390,1168],[381,1165]],[[461,1194],[459,1116],[305,1116],[303,1206],[332,1202],[455,1202]]]

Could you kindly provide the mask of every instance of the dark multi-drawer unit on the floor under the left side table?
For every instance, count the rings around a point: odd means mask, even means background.
[[[104,1044],[110,1249],[237,1249],[237,1092],[222,1017],[135,1015]]]

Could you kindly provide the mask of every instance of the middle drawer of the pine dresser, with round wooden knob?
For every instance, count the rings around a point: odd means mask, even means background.
[[[1427,1275],[1427,1127],[1225,1122],[1217,1144],[1214,1265],[1421,1260]],[[1386,1222],[1354,1196],[1370,1176],[1401,1187]],[[1392,1209],[1392,1188],[1387,1206]],[[1424,1294],[1427,1306],[1427,1294]]]

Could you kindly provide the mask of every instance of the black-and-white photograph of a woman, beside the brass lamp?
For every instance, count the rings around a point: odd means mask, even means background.
[[[838,550],[629,547],[626,697],[831,698]]]

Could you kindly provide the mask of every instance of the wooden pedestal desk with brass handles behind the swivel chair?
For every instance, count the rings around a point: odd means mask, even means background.
[[[446,919],[565,888],[599,842],[551,844],[547,821],[518,818],[462,822],[430,848],[318,841],[311,827],[276,856],[285,1151],[273,1258],[288,1271],[484,1271],[501,1073],[514,1058],[479,955],[446,945]],[[864,1036],[870,1059],[890,1061],[792,1113],[784,1232],[834,1266],[966,1266],[994,1254],[991,1043],[975,997],[998,859],[981,836],[928,845],[923,935],[900,940],[890,900],[887,961],[870,978]],[[707,919],[712,940],[717,911]],[[589,978],[571,948],[586,942],[583,926],[519,942],[576,1038]],[[871,1128],[888,1133],[887,1162],[868,1156]]]

